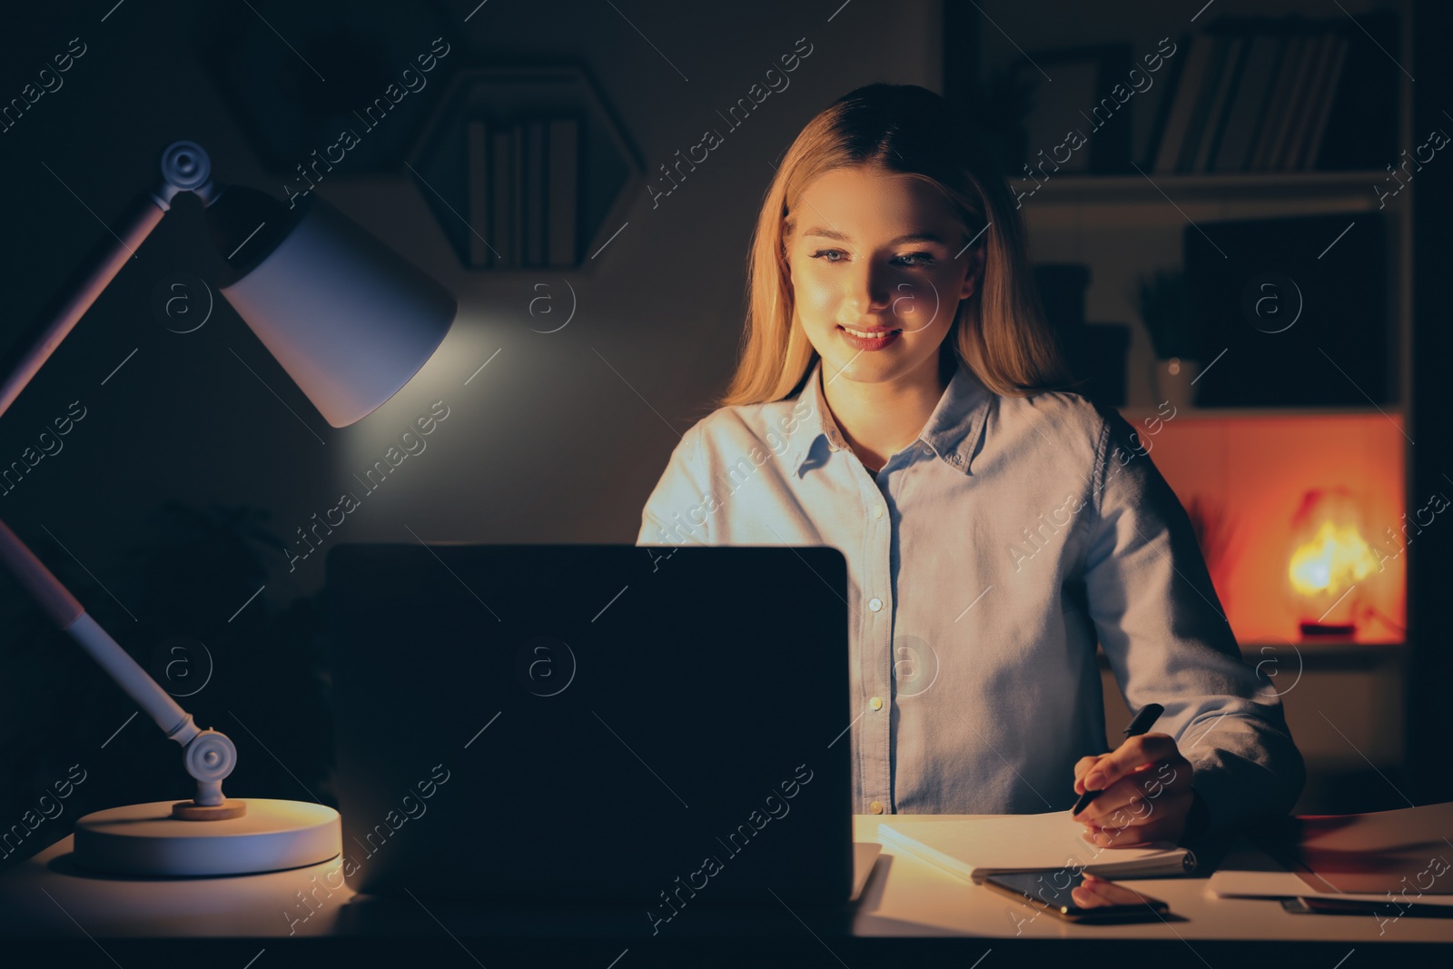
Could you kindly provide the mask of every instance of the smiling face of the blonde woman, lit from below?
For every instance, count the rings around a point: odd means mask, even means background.
[[[965,250],[947,200],[879,167],[834,169],[793,205],[788,240],[795,314],[824,362],[859,384],[937,368],[959,301],[974,293],[982,243]],[[856,337],[851,330],[876,338]]]

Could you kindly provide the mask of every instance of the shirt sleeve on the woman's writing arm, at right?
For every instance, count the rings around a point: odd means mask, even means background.
[[[1207,832],[1284,815],[1306,782],[1274,687],[1241,657],[1190,517],[1149,458],[1154,437],[1101,411],[1084,583],[1126,705],[1193,766]]]

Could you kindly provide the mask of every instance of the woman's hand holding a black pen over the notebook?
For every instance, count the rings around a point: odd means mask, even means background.
[[[1081,757],[1075,793],[1101,790],[1075,821],[1087,841],[1109,848],[1136,848],[1151,841],[1180,841],[1196,792],[1191,764],[1170,734],[1132,737],[1119,750]]]

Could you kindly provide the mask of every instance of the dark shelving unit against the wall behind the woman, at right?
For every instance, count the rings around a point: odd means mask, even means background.
[[[1221,15],[1276,17],[1300,13],[1311,17],[1340,16],[1300,0],[1271,3],[1218,4],[1205,12],[1197,23],[1187,23],[1178,13],[1159,4],[1123,0],[1097,4],[1088,16],[1081,7],[1064,3],[1062,16],[1053,10],[1055,0],[1035,6],[1035,16],[1016,9],[1010,0],[985,0],[978,19],[950,19],[978,51],[976,61],[966,68],[956,65],[946,71],[946,94],[962,96],[988,68],[1021,57],[1024,51],[1062,48],[1067,45],[1096,45],[1135,39],[1136,49],[1152,49],[1142,41],[1170,35],[1180,38],[1194,32]],[[1414,41],[1414,4],[1411,0],[1348,0],[1348,13],[1392,9],[1401,19],[1399,67],[1411,65]],[[1197,15],[1199,16],[1199,15]],[[1011,39],[1005,36],[1011,35]],[[1370,41],[1369,41],[1370,42]],[[1391,57],[1391,55],[1389,55]],[[1398,151],[1411,150],[1421,138],[1412,138],[1412,80],[1399,73],[1396,110],[1398,145],[1389,153],[1389,164],[1399,160]],[[1136,122],[1139,123],[1139,122]],[[1035,153],[1030,151],[1030,155]],[[1037,170],[1036,170],[1037,174]],[[1395,500],[1402,510],[1414,503],[1409,488],[1411,443],[1405,430],[1411,424],[1412,400],[1412,212],[1417,180],[1396,196],[1379,199],[1377,186],[1386,186],[1386,171],[1251,171],[1251,173],[1157,173],[1138,169],[1123,174],[1055,173],[1046,166],[1042,180],[1010,177],[1011,193],[1019,198],[1030,256],[1036,263],[1082,263],[1090,266],[1091,285],[1087,292],[1087,320],[1091,323],[1128,323],[1132,330],[1128,360],[1128,392],[1122,414],[1141,427],[1145,418],[1161,417],[1152,391],[1151,372],[1154,352],[1149,336],[1139,321],[1135,305],[1135,283],[1141,273],[1177,267],[1181,261],[1183,234],[1189,227],[1252,218],[1293,215],[1345,214],[1353,222],[1359,214],[1380,212],[1386,219],[1386,279],[1388,279],[1388,337],[1392,372],[1389,401],[1369,402],[1367,407],[1238,407],[1181,408],[1164,434],[1205,436],[1210,430],[1228,440],[1237,434],[1260,433],[1263,437],[1277,421],[1295,424],[1300,418],[1328,421],[1386,420],[1379,453],[1393,450],[1399,490]],[[1329,244],[1334,240],[1327,240]],[[1202,362],[1206,366],[1206,362]],[[1289,424],[1289,426],[1290,426]],[[1289,431],[1290,433],[1290,431]],[[1375,431],[1376,433],[1376,431]],[[1395,442],[1392,439],[1396,439]],[[1168,439],[1165,439],[1168,440]],[[1165,449],[1168,453],[1171,449]],[[1159,466],[1161,452],[1152,456]],[[1171,475],[1167,475],[1171,479]],[[1200,482],[1197,482],[1200,484]],[[1173,482],[1174,487],[1174,482]],[[1181,494],[1183,501],[1186,495]],[[1393,522],[1396,516],[1393,516]],[[1380,522],[1379,522],[1380,524]],[[1399,562],[1404,567],[1405,562]],[[1396,615],[1407,625],[1405,615]],[[1241,631],[1238,631],[1241,632]],[[1405,635],[1396,635],[1385,625],[1372,623],[1351,639],[1303,639],[1295,642],[1298,662],[1303,664],[1306,681],[1296,687],[1283,703],[1293,735],[1314,769],[1340,770],[1357,761],[1348,741],[1356,742],[1377,764],[1398,764],[1405,758],[1402,706],[1407,692],[1409,646]],[[1244,642],[1244,658],[1252,665],[1264,655],[1266,645],[1287,648],[1287,642],[1258,641],[1254,635]],[[1116,737],[1126,716],[1117,684],[1104,655],[1100,655],[1106,686],[1107,735]],[[1328,729],[1316,710],[1340,710],[1338,719],[1350,721],[1345,734]],[[1350,754],[1350,755],[1348,755]]]

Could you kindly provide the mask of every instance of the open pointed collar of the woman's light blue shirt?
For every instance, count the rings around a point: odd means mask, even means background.
[[[923,433],[918,434],[918,440],[926,443],[950,468],[969,474],[969,463],[982,436],[991,398],[989,389],[960,362],[949,379],[947,389],[928,415]],[[833,420],[822,394],[821,357],[812,365],[812,373],[808,375],[796,400],[799,404],[811,407],[805,418],[808,434],[802,437],[802,443],[793,455],[793,469],[801,477],[818,450],[818,442],[825,442],[822,446],[833,450],[847,449],[847,440],[837,421]]]

